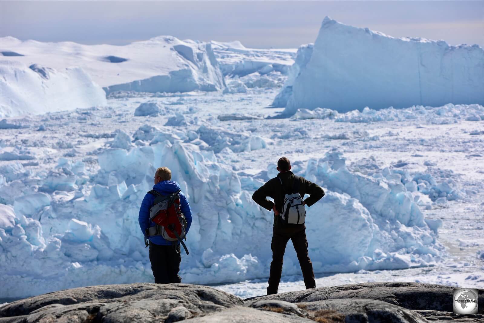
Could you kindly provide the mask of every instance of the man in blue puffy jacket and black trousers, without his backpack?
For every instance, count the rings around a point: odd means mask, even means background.
[[[171,181],[170,169],[161,167],[156,169],[153,189],[160,194],[168,195],[178,192],[180,185]],[[179,195],[181,213],[185,215],[187,222],[185,233],[188,233],[192,224],[192,210],[185,195],[181,192]],[[141,202],[138,221],[143,234],[145,234],[147,228],[156,225],[150,221],[150,209],[153,206],[154,198],[154,195],[147,193]],[[181,277],[178,275],[181,262],[180,242],[166,241],[161,235],[149,236],[148,239],[150,240],[150,261],[154,282],[157,284],[180,283]]]

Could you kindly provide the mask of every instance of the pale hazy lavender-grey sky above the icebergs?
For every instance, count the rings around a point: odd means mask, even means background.
[[[314,43],[326,15],[394,37],[484,47],[484,0],[0,0],[0,37],[123,45],[172,35],[200,41],[239,40],[252,48],[297,48]]]

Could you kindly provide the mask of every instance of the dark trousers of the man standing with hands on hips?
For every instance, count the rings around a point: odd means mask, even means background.
[[[281,280],[284,252],[286,251],[286,245],[289,239],[291,239],[296,254],[298,255],[306,289],[316,288],[313,263],[309,259],[307,251],[306,227],[304,225],[302,227],[274,226],[272,232],[272,262],[267,294],[277,293],[279,281]]]

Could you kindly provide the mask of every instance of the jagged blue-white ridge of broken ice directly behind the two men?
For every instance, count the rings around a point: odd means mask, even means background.
[[[60,158],[55,169],[37,172],[19,163],[3,164],[0,297],[152,281],[137,217],[152,186],[153,165],[160,160],[172,170],[194,212],[187,240],[191,253],[181,264],[183,281],[267,277],[272,216],[251,195],[275,175],[274,166],[254,175],[238,174],[220,163],[214,150],[234,154],[261,149],[265,143],[212,130],[216,135],[206,127],[174,134],[145,125],[133,136],[116,130],[114,140],[96,152],[98,167],[90,166],[90,158]],[[310,159],[296,172],[328,191],[324,203],[308,209],[316,272],[399,269],[439,260],[439,224],[425,220],[411,194],[419,179],[426,180],[418,182],[421,188],[432,190],[435,181],[430,183],[428,176],[412,179],[388,169],[372,176],[355,174],[338,151]],[[300,273],[291,248],[284,273]]]

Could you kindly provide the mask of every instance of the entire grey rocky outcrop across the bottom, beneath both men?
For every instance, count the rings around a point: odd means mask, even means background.
[[[0,323],[41,322],[482,322],[452,313],[450,286],[380,282],[321,287],[243,301],[188,284],[100,285],[34,296],[0,308]],[[484,291],[479,301],[484,304]]]

